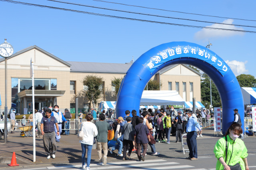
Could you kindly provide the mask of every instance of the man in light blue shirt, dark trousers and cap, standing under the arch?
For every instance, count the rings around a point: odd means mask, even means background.
[[[189,156],[186,159],[197,160],[197,145],[196,145],[196,127],[201,131],[201,127],[196,118],[192,117],[192,112],[187,112],[188,123],[186,125],[187,143]]]

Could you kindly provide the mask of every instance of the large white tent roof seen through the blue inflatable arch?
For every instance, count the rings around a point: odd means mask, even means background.
[[[140,105],[185,105],[176,90],[144,90]]]

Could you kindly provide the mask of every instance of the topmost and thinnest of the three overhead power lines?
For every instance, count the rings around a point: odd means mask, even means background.
[[[199,15],[199,16],[210,16],[210,17],[233,19],[233,20],[256,21],[256,20],[247,20],[247,19],[241,19],[241,18],[229,18],[229,17],[222,17],[222,16],[212,16],[212,15],[204,15],[204,14],[194,14],[194,13],[189,13],[189,12],[164,10],[164,9],[159,9],[159,8],[150,8],[150,7],[145,7],[145,6],[136,6],[136,5],[129,5],[129,4],[121,4],[121,3],[117,3],[117,2],[108,2],[108,1],[104,1],[104,0],[94,0],[94,1],[106,2],[106,3],[112,3],[112,4],[120,4],[120,5],[125,5],[125,6],[134,6],[134,7],[146,8],[146,9],[152,9],[152,10],[161,10],[161,11],[167,11],[167,12],[178,12],[178,13],[182,13],[182,14],[191,14],[191,15]]]

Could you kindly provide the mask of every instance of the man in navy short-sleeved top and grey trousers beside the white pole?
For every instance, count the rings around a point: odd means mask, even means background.
[[[57,128],[57,134],[60,134],[58,122],[54,116],[51,117],[51,110],[46,110],[45,117],[42,118],[41,121],[41,132],[44,142],[44,150],[47,154],[47,159],[55,158],[55,152],[57,151],[57,145],[55,141],[55,132],[54,132],[54,125]]]

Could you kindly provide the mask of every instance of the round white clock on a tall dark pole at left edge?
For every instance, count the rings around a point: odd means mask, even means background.
[[[6,42],[0,44],[0,55],[5,58],[5,106],[4,106],[4,143],[7,143],[7,119],[8,119],[8,110],[7,110],[7,57],[10,57],[13,54],[13,47],[10,43]]]

